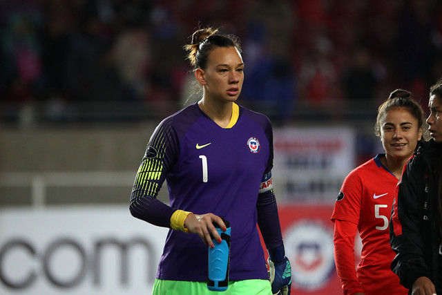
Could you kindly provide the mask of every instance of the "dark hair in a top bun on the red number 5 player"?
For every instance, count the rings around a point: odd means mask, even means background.
[[[422,128],[422,133],[425,133],[426,130],[423,128],[423,124],[425,123],[426,116],[421,105],[412,98],[410,91],[396,89],[390,93],[388,99],[378,108],[378,116],[376,117],[376,124],[374,124],[374,134],[376,136],[381,136],[381,120],[387,115],[390,108],[407,108],[410,114],[417,120],[418,128]]]

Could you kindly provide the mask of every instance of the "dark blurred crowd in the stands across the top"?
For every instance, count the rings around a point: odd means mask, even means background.
[[[209,25],[242,39],[242,102],[282,123],[299,102],[377,104],[400,87],[426,106],[442,76],[436,0],[5,0],[0,104],[42,104],[52,120],[91,102],[180,108],[192,97],[182,46]]]

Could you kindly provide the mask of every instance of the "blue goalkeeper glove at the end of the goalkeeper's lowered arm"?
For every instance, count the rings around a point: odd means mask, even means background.
[[[269,278],[271,293],[273,295],[290,295],[291,292],[291,265],[289,259],[284,259],[279,263],[273,263],[269,258]]]

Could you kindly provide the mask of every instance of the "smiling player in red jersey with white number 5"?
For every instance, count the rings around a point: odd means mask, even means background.
[[[343,294],[407,294],[390,269],[389,220],[394,189],[403,166],[421,140],[425,116],[408,91],[398,89],[378,109],[375,133],[385,154],[378,154],[347,175],[334,205],[334,257]],[[357,269],[354,238],[363,243]]]

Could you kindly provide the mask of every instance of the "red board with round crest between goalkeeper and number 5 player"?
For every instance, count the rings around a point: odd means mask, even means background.
[[[291,204],[278,211],[292,294],[343,294],[333,256],[333,205]]]

